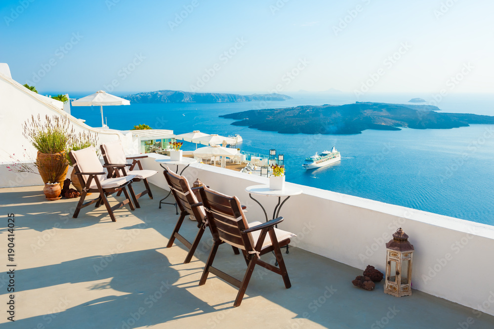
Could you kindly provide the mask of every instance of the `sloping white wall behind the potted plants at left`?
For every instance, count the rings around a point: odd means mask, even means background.
[[[50,117],[67,115],[77,133],[82,131],[97,132],[100,143],[121,139],[129,153],[135,153],[138,150],[137,145],[132,142],[130,133],[124,135],[115,130],[92,128],[63,110],[43,102],[27,88],[0,72],[0,164],[3,163],[0,165],[0,187],[43,184],[41,177],[37,174],[15,173],[6,168],[6,165],[12,163],[9,155],[14,155],[16,159],[31,164],[32,161],[30,160],[36,158],[36,149],[22,135],[22,125],[31,119],[32,115],[35,117],[40,115],[41,119],[45,115]]]

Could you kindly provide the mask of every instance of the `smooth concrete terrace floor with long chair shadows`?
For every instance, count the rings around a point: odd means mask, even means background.
[[[210,234],[204,235],[197,258],[182,264],[185,247],[179,242],[165,247],[178,216],[173,206],[158,209],[165,191],[152,189],[154,200],[142,198],[141,208],[135,211],[117,210],[115,223],[103,206],[84,208],[73,219],[78,199],[46,202],[41,186],[0,189],[4,257],[0,326],[494,328],[490,315],[477,315],[417,290],[412,296],[396,298],[383,293],[382,282],[373,291],[356,288],[351,280],[362,271],[295,247],[285,254],[292,287],[286,289],[280,276],[259,267],[242,305],[234,308],[235,287],[211,274],[205,286],[198,286]],[[114,198],[110,200],[115,203]],[[7,213],[15,214],[16,224],[13,323],[5,313]],[[195,222],[186,220],[181,232],[192,241]],[[264,257],[273,258],[271,254]],[[220,247],[215,265],[239,279],[246,269],[243,258],[227,245]]]

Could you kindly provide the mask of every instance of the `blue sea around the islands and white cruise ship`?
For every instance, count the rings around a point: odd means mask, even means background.
[[[79,98],[87,93],[72,93]],[[106,106],[111,128],[128,130],[144,123],[174,133],[201,130],[240,134],[244,151],[285,154],[287,181],[494,225],[494,126],[400,131],[366,130],[356,135],[279,134],[231,125],[222,114],[297,105],[348,104],[351,94],[294,94],[282,102],[215,104],[131,104]],[[373,94],[359,101],[406,103],[422,97],[435,105],[434,95]],[[447,95],[442,112],[494,115],[494,95]],[[99,107],[72,107],[72,114],[91,126],[101,126]],[[195,148],[184,143],[185,150]],[[303,160],[335,146],[341,162],[306,171]]]

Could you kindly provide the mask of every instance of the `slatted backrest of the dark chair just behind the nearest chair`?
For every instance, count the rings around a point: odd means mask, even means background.
[[[165,179],[170,187],[171,193],[175,197],[180,211],[186,211],[189,215],[196,217],[198,223],[203,223],[206,220],[206,213],[203,206],[193,207],[198,200],[196,195],[190,189],[189,182],[184,176],[180,176],[171,170],[164,170]]]

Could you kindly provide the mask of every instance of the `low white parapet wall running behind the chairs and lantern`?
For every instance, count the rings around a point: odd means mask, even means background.
[[[168,190],[163,169],[154,162],[154,158],[162,157],[150,155],[143,164],[147,169],[159,170],[150,181]],[[191,165],[184,175],[190,184],[199,177],[210,188],[239,197],[247,206],[249,221],[264,220],[264,213],[245,189],[267,184],[266,177],[204,164]],[[285,218],[280,228],[298,235],[292,241],[293,246],[362,270],[370,264],[384,273],[385,243],[402,227],[415,247],[412,288],[494,315],[493,226],[287,184],[304,191],[291,197],[280,212]],[[277,199],[254,197],[271,218]],[[355,272],[355,276],[361,274]],[[349,284],[352,279],[348,278]]]

